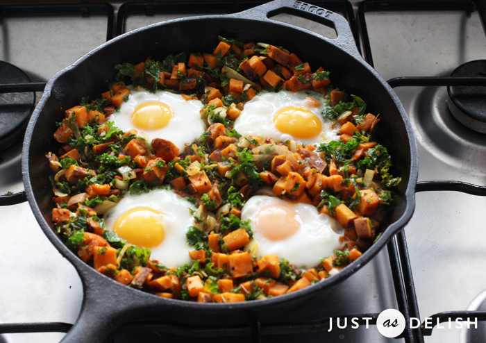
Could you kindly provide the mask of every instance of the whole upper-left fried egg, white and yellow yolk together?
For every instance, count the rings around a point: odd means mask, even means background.
[[[176,144],[182,153],[185,144],[191,143],[206,131],[201,119],[203,103],[185,100],[171,92],[133,91],[128,101],[121,104],[119,112],[110,117],[123,131],[132,128],[153,138],[163,138]]]

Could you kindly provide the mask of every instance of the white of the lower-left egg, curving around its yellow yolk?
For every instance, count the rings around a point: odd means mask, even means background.
[[[196,210],[189,201],[171,190],[153,190],[149,193],[126,194],[117,206],[105,216],[106,228],[110,231],[117,219],[133,208],[151,208],[160,212],[164,240],[151,248],[151,258],[162,262],[166,267],[178,267],[190,263],[188,251],[194,250],[187,244],[185,233],[194,224],[191,210]]]

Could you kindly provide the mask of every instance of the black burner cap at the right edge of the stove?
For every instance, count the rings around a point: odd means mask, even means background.
[[[455,69],[451,76],[486,76],[486,60],[473,60]],[[449,86],[449,109],[465,126],[486,133],[486,86]]]

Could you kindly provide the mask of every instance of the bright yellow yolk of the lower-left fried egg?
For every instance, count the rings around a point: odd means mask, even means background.
[[[134,208],[121,215],[113,231],[130,244],[152,248],[164,240],[160,213],[151,208]]]

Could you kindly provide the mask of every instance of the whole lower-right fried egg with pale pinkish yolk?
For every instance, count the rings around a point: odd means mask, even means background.
[[[252,196],[246,201],[241,217],[251,220],[253,242],[250,249],[256,251],[257,258],[276,255],[296,267],[310,268],[342,247],[342,227],[335,219],[319,215],[315,206],[306,203]]]

